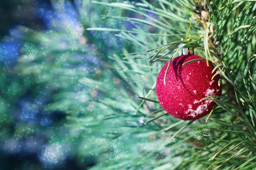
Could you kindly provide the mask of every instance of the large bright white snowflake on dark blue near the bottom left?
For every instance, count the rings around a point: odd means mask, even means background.
[[[45,169],[53,169],[58,163],[57,154],[49,145],[41,147],[38,158]]]

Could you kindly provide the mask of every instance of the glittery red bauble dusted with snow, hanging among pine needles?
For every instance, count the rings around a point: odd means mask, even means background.
[[[169,65],[164,85],[164,74],[167,62],[157,77],[157,99],[160,105],[172,116],[183,120],[195,120],[206,116],[215,106],[212,99],[201,100],[207,96],[221,95],[222,85],[218,86],[221,78],[212,73],[214,66],[205,60],[182,65],[192,59],[201,59],[197,55],[183,55],[176,57]],[[200,101],[201,100],[201,101]]]

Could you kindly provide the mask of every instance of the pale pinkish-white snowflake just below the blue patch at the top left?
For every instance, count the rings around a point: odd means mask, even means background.
[[[83,35],[84,28],[79,22],[71,21],[70,24],[66,28],[67,34],[71,38],[79,38]]]

